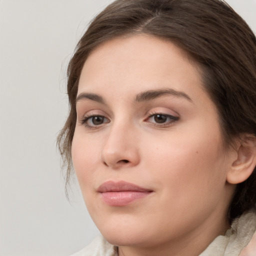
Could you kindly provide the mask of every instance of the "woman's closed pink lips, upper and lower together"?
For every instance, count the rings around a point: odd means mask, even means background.
[[[124,206],[149,195],[152,190],[125,181],[106,181],[98,189],[102,200],[110,206]]]

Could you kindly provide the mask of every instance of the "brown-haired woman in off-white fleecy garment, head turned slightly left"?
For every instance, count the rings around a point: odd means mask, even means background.
[[[255,249],[256,39],[238,14],[116,0],[67,73],[59,147],[102,234],[75,256]]]

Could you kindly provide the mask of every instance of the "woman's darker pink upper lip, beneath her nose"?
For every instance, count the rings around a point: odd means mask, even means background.
[[[147,188],[143,188],[141,186],[135,185],[133,183],[129,183],[126,181],[105,181],[102,183],[98,189],[98,192],[118,192],[118,191],[152,191]]]

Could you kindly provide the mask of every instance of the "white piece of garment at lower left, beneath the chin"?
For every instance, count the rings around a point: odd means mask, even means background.
[[[71,256],[115,256],[116,247],[107,242],[102,235]]]

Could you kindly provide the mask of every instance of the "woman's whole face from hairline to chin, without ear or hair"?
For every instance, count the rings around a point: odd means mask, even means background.
[[[157,246],[223,231],[230,159],[181,49],[143,34],[101,44],[84,63],[76,110],[73,165],[109,242]]]

